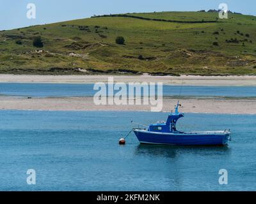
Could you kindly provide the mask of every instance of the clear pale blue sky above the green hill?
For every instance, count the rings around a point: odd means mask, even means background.
[[[35,3],[36,19],[26,17],[28,3]],[[220,3],[228,10],[256,15],[255,0],[0,0],[0,30],[109,13],[218,9]]]

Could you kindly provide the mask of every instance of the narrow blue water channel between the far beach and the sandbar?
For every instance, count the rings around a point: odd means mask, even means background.
[[[181,91],[181,92],[180,92]],[[0,83],[0,95],[31,97],[93,96],[93,84]],[[116,91],[117,92],[117,91]],[[163,96],[256,97],[256,87],[164,85]]]

